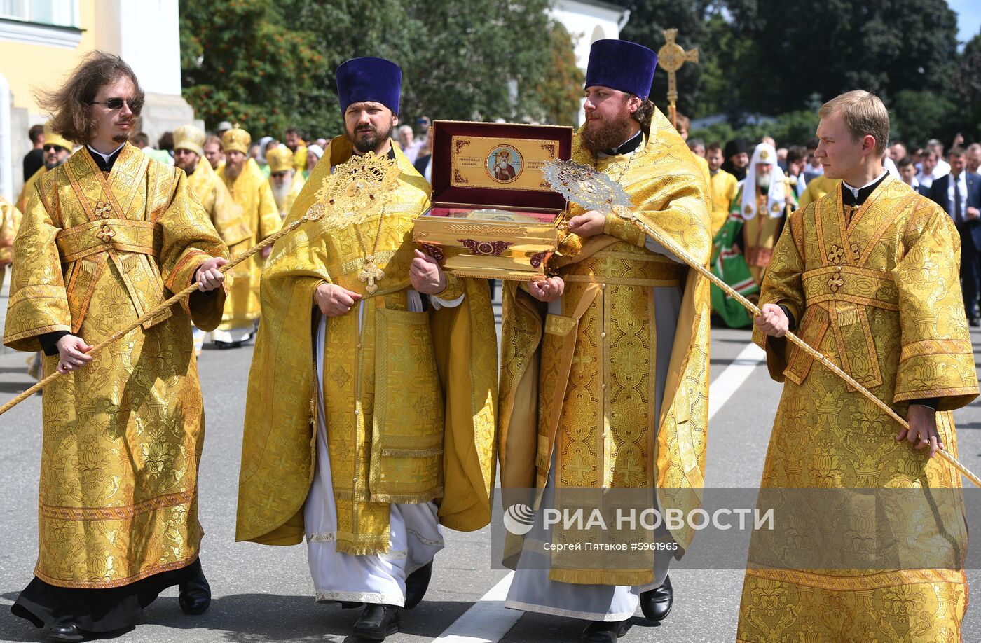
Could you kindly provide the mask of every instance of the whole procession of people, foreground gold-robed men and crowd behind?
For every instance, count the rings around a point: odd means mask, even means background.
[[[784,382],[761,487],[902,489],[911,503],[887,517],[902,536],[896,557],[878,555],[872,503],[849,526],[850,542],[875,543],[863,569],[838,551],[825,552],[837,565],[750,565],[738,640],[959,640],[961,482],[935,456],[955,451],[951,411],[978,395],[976,290],[961,291],[957,274],[959,263],[959,276],[976,275],[964,246],[981,234],[969,154],[955,147],[946,169],[928,149],[917,185],[894,176],[887,151],[902,152],[898,168],[906,153],[888,144],[883,102],[861,90],[821,107],[810,150],[686,143],[689,122],[649,98],[656,61],[637,43],[593,43],[571,156],[632,206],[570,205],[543,274],[502,287],[499,362],[487,279],[443,270],[412,241],[432,157],[426,136],[396,129],[395,63],[341,64],[344,130],[310,144],[293,129],[283,144],[253,143],[235,124],[212,135],[187,124],[151,149],[134,132],[138,79],[101,52],[42,93],[51,118],[26,171],[37,169],[18,208],[2,210],[13,223],[0,229],[16,235],[0,254],[13,261],[3,341],[64,376],[42,399],[38,557],[13,614],[82,641],[132,627],[170,586],[185,614],[209,608],[195,344],[211,332],[225,347],[254,339],[235,538],[305,541],[313,593],[361,611],[356,638],[399,630],[424,598],[442,529],[486,526],[499,476],[499,493],[534,517],[501,552],[515,569],[505,606],[586,620],[584,641],[615,643],[638,609],[667,618],[669,569],[699,529],[714,308],[754,325]],[[385,199],[369,171],[390,176]],[[351,194],[361,207],[330,210]],[[284,230],[230,283],[232,255],[315,205],[331,216]],[[757,299],[757,317],[737,319],[696,270],[709,265]],[[180,306],[157,309],[191,285]],[[789,330],[908,425],[789,345]],[[615,562],[570,555],[600,536],[542,517],[591,489],[641,490],[645,511],[688,519],[601,534],[650,545]],[[934,511],[943,489],[953,499]],[[812,553],[834,517],[805,505],[785,509]],[[750,561],[771,549],[761,529],[752,537]],[[910,543],[943,563],[916,565]]]

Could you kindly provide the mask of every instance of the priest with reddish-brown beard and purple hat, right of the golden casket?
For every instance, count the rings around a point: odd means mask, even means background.
[[[587,122],[572,158],[620,183],[642,221],[707,264],[707,187],[681,136],[646,100],[655,64],[642,45],[594,42]],[[549,265],[557,276],[505,284],[501,486],[538,489],[542,508],[570,488],[646,489],[649,502],[687,514],[704,481],[708,281],[631,221],[578,207],[571,214]],[[693,537],[687,527],[663,529],[656,536],[672,547],[653,559],[578,569],[558,556],[542,561],[534,543],[559,536],[540,531],[525,538],[505,605],[591,620],[588,641],[614,641],[639,604],[652,621],[666,617],[668,564]]]

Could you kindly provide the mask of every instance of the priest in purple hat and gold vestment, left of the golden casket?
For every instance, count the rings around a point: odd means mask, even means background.
[[[490,521],[495,333],[487,280],[446,274],[413,248],[429,184],[390,138],[401,71],[358,58],[336,79],[346,136],[286,223],[331,199],[319,192],[354,154],[387,156],[400,176],[380,214],[305,223],[269,259],[236,538],[305,536],[317,600],[364,603],[354,634],[379,641],[422,598],[439,524]]]

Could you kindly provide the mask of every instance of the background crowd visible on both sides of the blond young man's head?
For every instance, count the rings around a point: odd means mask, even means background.
[[[769,136],[754,146],[744,139],[727,141],[724,147],[718,141],[706,146],[700,138],[688,139],[688,118],[679,115],[677,123],[689,149],[704,159],[698,163],[711,197],[712,270],[755,301],[789,216],[839,189],[841,181],[825,175],[816,137],[787,147],[776,147]],[[981,326],[981,143],[964,142],[957,134],[945,152],[936,138],[912,148],[893,140],[883,166],[937,203],[955,223],[964,310],[971,326]],[[712,312],[730,327],[752,323],[746,309],[714,285]]]

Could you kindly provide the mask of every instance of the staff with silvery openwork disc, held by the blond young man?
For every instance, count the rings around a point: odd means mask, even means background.
[[[678,245],[666,232],[656,226],[642,221],[633,212],[631,212],[630,208],[633,207],[634,204],[630,200],[630,196],[626,191],[624,191],[623,187],[619,183],[614,182],[609,176],[596,172],[589,166],[584,166],[573,161],[559,160],[548,161],[545,164],[542,173],[545,176],[545,180],[551,184],[552,189],[562,194],[569,201],[572,201],[573,203],[576,203],[587,210],[612,212],[622,219],[626,219],[641,226],[641,228],[644,229],[644,231],[649,234],[651,238],[657,241],[657,243],[661,244],[668,252],[685,262],[689,267],[695,269],[712,283],[722,288],[726,294],[738,301],[744,308],[752,313],[753,317],[758,317],[760,315],[759,308],[750,302],[749,299],[733,290],[728,283],[723,281],[715,274],[712,274],[711,271],[701,264],[697,263],[697,261],[695,261],[695,259],[693,259],[687,252],[678,247]],[[868,398],[868,400],[877,407],[885,411],[889,417],[896,420],[901,426],[907,429],[909,428],[909,423],[906,422],[906,420],[893,411],[888,404],[876,397],[875,394],[856,382],[852,378],[852,375],[842,371],[834,362],[811,348],[810,344],[800,339],[800,337],[795,335],[790,330],[787,331],[786,337],[792,343],[800,346],[804,352],[824,365],[824,367],[829,371],[832,371],[848,382],[852,388]],[[964,467],[960,461],[951,455],[947,450],[940,449],[938,450],[938,453],[956,470],[960,471],[968,480],[981,487],[981,478],[975,475],[971,470]]]

